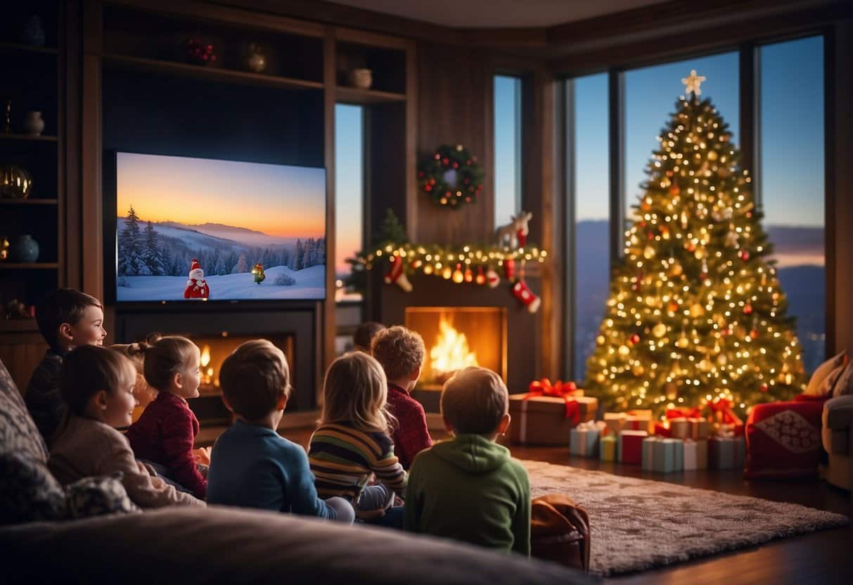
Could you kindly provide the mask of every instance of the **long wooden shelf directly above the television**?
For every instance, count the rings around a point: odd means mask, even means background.
[[[282,78],[275,75],[262,75],[232,69],[218,69],[216,67],[188,65],[186,63],[144,59],[142,57],[129,57],[126,55],[103,55],[103,60],[108,65],[116,67],[160,72],[184,78],[223,81],[232,84],[259,85],[262,87],[278,87],[292,90],[322,90],[323,87],[323,84],[318,81],[308,81],[306,79]]]

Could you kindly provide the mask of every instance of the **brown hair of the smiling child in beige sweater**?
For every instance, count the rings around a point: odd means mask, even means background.
[[[60,390],[72,414],[84,416],[86,405],[99,391],[114,392],[133,384],[133,363],[116,351],[81,345],[65,359]]]

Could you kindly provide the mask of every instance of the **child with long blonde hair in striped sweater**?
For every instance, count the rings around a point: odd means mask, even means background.
[[[345,497],[363,518],[384,515],[406,487],[387,434],[386,395],[385,374],[373,357],[361,351],[339,357],[326,372],[320,426],[308,449],[317,493]],[[380,484],[368,486],[374,474]],[[399,512],[387,518],[396,521],[402,524]]]

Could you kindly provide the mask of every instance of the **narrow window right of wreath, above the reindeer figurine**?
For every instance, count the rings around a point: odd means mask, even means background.
[[[495,76],[495,226],[521,209],[521,79]]]

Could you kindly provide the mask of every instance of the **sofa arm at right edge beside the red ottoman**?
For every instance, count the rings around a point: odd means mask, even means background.
[[[850,489],[853,484],[853,395],[830,398],[823,405],[821,442],[827,451],[827,464],[821,475],[830,484]]]

